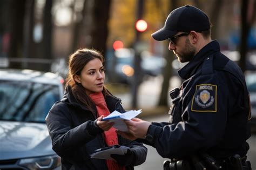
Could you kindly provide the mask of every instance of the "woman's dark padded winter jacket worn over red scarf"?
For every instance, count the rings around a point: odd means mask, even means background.
[[[120,99],[106,96],[105,101],[110,112],[125,112]],[[70,87],[66,89],[63,99],[53,105],[45,121],[52,139],[52,149],[62,159],[62,169],[107,169],[105,160],[90,159],[90,154],[96,149],[107,146],[103,131],[95,126],[96,118],[86,107],[77,103]],[[126,169],[134,169],[133,166],[145,161],[147,149],[142,143],[126,140],[119,135],[118,142],[119,145],[130,147],[134,155],[132,164]]]

